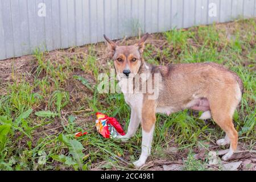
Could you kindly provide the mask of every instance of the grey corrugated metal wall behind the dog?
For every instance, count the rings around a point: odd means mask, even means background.
[[[255,16],[256,0],[0,0],[0,60]],[[46,16],[39,16],[45,3]],[[209,16],[210,3],[217,15]]]

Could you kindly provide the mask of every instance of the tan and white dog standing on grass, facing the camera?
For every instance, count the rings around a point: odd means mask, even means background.
[[[237,150],[238,133],[234,128],[233,114],[241,102],[243,83],[241,78],[229,69],[216,63],[188,63],[171,65],[151,65],[143,59],[144,43],[149,34],[146,33],[132,46],[118,46],[104,35],[118,84],[143,73],[150,73],[151,80],[159,75],[157,98],[151,99],[152,93],[123,92],[126,103],[131,107],[130,123],[126,135],[119,136],[126,141],[133,137],[142,126],[142,152],[133,164],[142,167],[150,155],[154,134],[156,113],[171,114],[184,109],[204,111],[200,119],[212,118],[225,131],[225,138],[217,140],[217,144],[230,144],[223,160],[229,160]],[[141,79],[141,88],[148,82],[148,77]],[[156,84],[155,84],[156,86]],[[131,85],[134,90],[136,86]],[[123,89],[122,89],[123,91]]]

